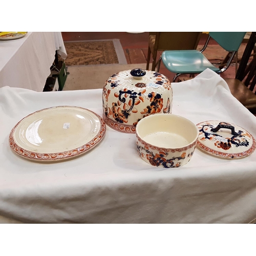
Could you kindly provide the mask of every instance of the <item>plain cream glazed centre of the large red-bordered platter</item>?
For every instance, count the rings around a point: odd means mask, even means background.
[[[51,108],[34,113],[16,127],[17,145],[35,153],[70,151],[91,141],[100,131],[99,118],[86,109]]]

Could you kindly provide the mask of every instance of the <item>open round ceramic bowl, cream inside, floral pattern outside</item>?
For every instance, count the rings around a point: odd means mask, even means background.
[[[137,151],[147,163],[165,168],[182,166],[194,154],[199,131],[190,120],[173,115],[151,115],[136,126]]]

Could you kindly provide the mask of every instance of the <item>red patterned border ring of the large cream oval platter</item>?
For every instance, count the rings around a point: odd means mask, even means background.
[[[86,144],[84,144],[80,147],[74,148],[70,151],[57,152],[57,153],[49,153],[49,154],[48,153],[35,153],[35,152],[28,151],[25,148],[22,148],[22,147],[18,146],[15,143],[14,137],[13,137],[14,131],[15,131],[16,127],[18,126],[18,124],[20,122],[22,122],[25,118],[27,118],[27,117],[35,114],[35,113],[44,111],[44,110],[54,109],[54,108],[61,108],[61,107],[72,107],[72,108],[82,109],[82,110],[86,110],[86,111],[89,111],[89,112],[93,113],[100,120],[100,130],[99,130],[99,132],[88,143],[86,143]],[[29,114],[28,116],[24,117],[22,120],[20,120],[13,127],[13,129],[12,129],[10,135],[9,135],[9,145],[10,145],[11,149],[16,154],[18,154],[19,156],[24,157],[26,159],[36,160],[36,161],[59,161],[59,160],[73,158],[73,157],[76,157],[76,156],[79,156],[81,154],[84,154],[84,153],[88,152],[93,147],[95,147],[97,144],[99,144],[99,142],[103,139],[103,137],[105,135],[105,132],[106,132],[106,124],[103,121],[103,119],[98,114],[96,114],[95,112],[93,112],[91,110],[88,110],[88,109],[80,108],[79,106],[54,106],[52,108],[46,108],[46,109],[42,109],[42,110],[33,112],[33,113]]]

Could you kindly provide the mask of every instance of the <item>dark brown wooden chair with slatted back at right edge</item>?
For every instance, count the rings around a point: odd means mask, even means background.
[[[252,32],[243,53],[236,78],[225,78],[230,92],[252,114],[256,114],[256,55],[251,59],[255,49],[256,32]]]

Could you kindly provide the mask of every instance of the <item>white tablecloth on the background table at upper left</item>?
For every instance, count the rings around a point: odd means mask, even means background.
[[[66,59],[61,32],[28,32],[22,38],[0,40],[0,87],[42,92],[56,50]]]

